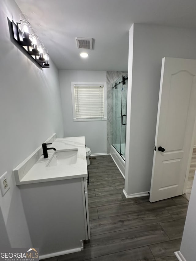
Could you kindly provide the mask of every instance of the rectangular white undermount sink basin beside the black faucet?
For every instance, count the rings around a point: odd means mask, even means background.
[[[78,149],[58,150],[52,155],[46,164],[46,167],[54,167],[59,165],[73,165],[77,161]]]

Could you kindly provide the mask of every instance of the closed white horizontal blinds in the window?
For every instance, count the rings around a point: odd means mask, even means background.
[[[76,118],[104,117],[104,85],[74,85]]]

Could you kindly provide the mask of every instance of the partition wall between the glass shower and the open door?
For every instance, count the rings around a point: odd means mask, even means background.
[[[162,58],[195,59],[195,46],[195,30],[145,24],[130,28],[127,94],[130,122],[125,171],[128,195],[150,190]]]

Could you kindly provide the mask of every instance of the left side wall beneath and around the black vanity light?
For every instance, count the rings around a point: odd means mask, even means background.
[[[0,8],[0,176],[7,171],[11,186],[3,197],[0,193],[0,227],[5,226],[11,247],[29,247],[12,170],[54,132],[63,136],[58,70],[52,61],[50,69],[40,69],[10,41],[7,17],[17,22],[21,13],[15,1],[2,0]]]

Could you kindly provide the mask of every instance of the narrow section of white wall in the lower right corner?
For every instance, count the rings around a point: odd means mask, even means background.
[[[187,218],[184,226],[183,238],[180,247],[180,252],[186,261],[195,261],[196,248],[196,178],[193,181],[193,187],[191,190],[189,207],[187,211]]]

